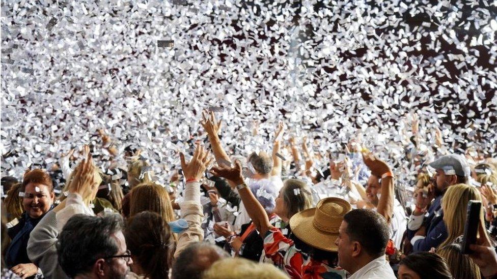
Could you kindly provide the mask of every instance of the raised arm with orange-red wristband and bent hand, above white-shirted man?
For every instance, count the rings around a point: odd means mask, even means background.
[[[376,212],[380,213],[387,222],[392,221],[394,212],[394,178],[392,170],[385,162],[375,158],[369,152],[363,152],[364,164],[371,170],[371,174],[381,178],[381,197],[376,207]]]

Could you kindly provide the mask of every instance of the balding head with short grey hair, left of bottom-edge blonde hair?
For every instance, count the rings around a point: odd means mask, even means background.
[[[229,257],[220,247],[208,242],[188,245],[175,259],[172,279],[196,279],[217,260]]]

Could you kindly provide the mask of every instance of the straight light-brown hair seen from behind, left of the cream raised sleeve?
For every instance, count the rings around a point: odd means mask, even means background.
[[[166,222],[175,220],[169,193],[162,186],[154,182],[143,183],[131,189],[130,196],[130,217],[143,211],[152,211],[161,215]]]

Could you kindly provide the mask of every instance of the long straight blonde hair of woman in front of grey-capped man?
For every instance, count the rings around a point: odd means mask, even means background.
[[[464,234],[467,204],[470,200],[481,201],[482,198],[480,192],[478,192],[476,188],[466,184],[452,185],[447,189],[447,192],[445,192],[441,205],[444,210],[444,223],[447,227],[448,236],[439,247],[450,244],[458,236]],[[485,224],[483,207],[480,210],[480,222]]]

